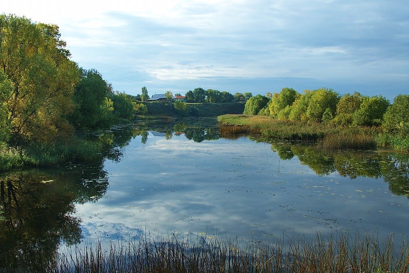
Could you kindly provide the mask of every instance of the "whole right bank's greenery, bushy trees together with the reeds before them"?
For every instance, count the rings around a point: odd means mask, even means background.
[[[252,133],[330,149],[392,147],[409,152],[408,110],[409,95],[397,96],[390,105],[382,96],[339,96],[328,88],[299,94],[283,88],[271,99],[258,95],[247,100],[245,115],[218,120],[222,135]]]

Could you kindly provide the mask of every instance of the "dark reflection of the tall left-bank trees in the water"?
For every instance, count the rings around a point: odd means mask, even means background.
[[[102,164],[0,176],[0,268],[56,254],[60,242],[78,244],[76,204],[96,202],[108,186]],[[40,268],[38,268],[40,270]]]

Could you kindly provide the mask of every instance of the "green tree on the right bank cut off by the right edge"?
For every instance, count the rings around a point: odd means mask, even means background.
[[[384,127],[402,135],[409,134],[409,95],[398,95],[383,116]]]

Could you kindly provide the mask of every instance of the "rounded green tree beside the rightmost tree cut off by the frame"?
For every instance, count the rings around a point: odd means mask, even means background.
[[[389,100],[382,96],[365,97],[359,109],[353,114],[353,124],[360,126],[381,125],[388,106]]]

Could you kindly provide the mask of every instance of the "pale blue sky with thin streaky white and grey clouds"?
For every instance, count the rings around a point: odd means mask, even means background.
[[[407,0],[16,0],[0,12],[58,25],[79,66],[132,95],[409,93]]]

